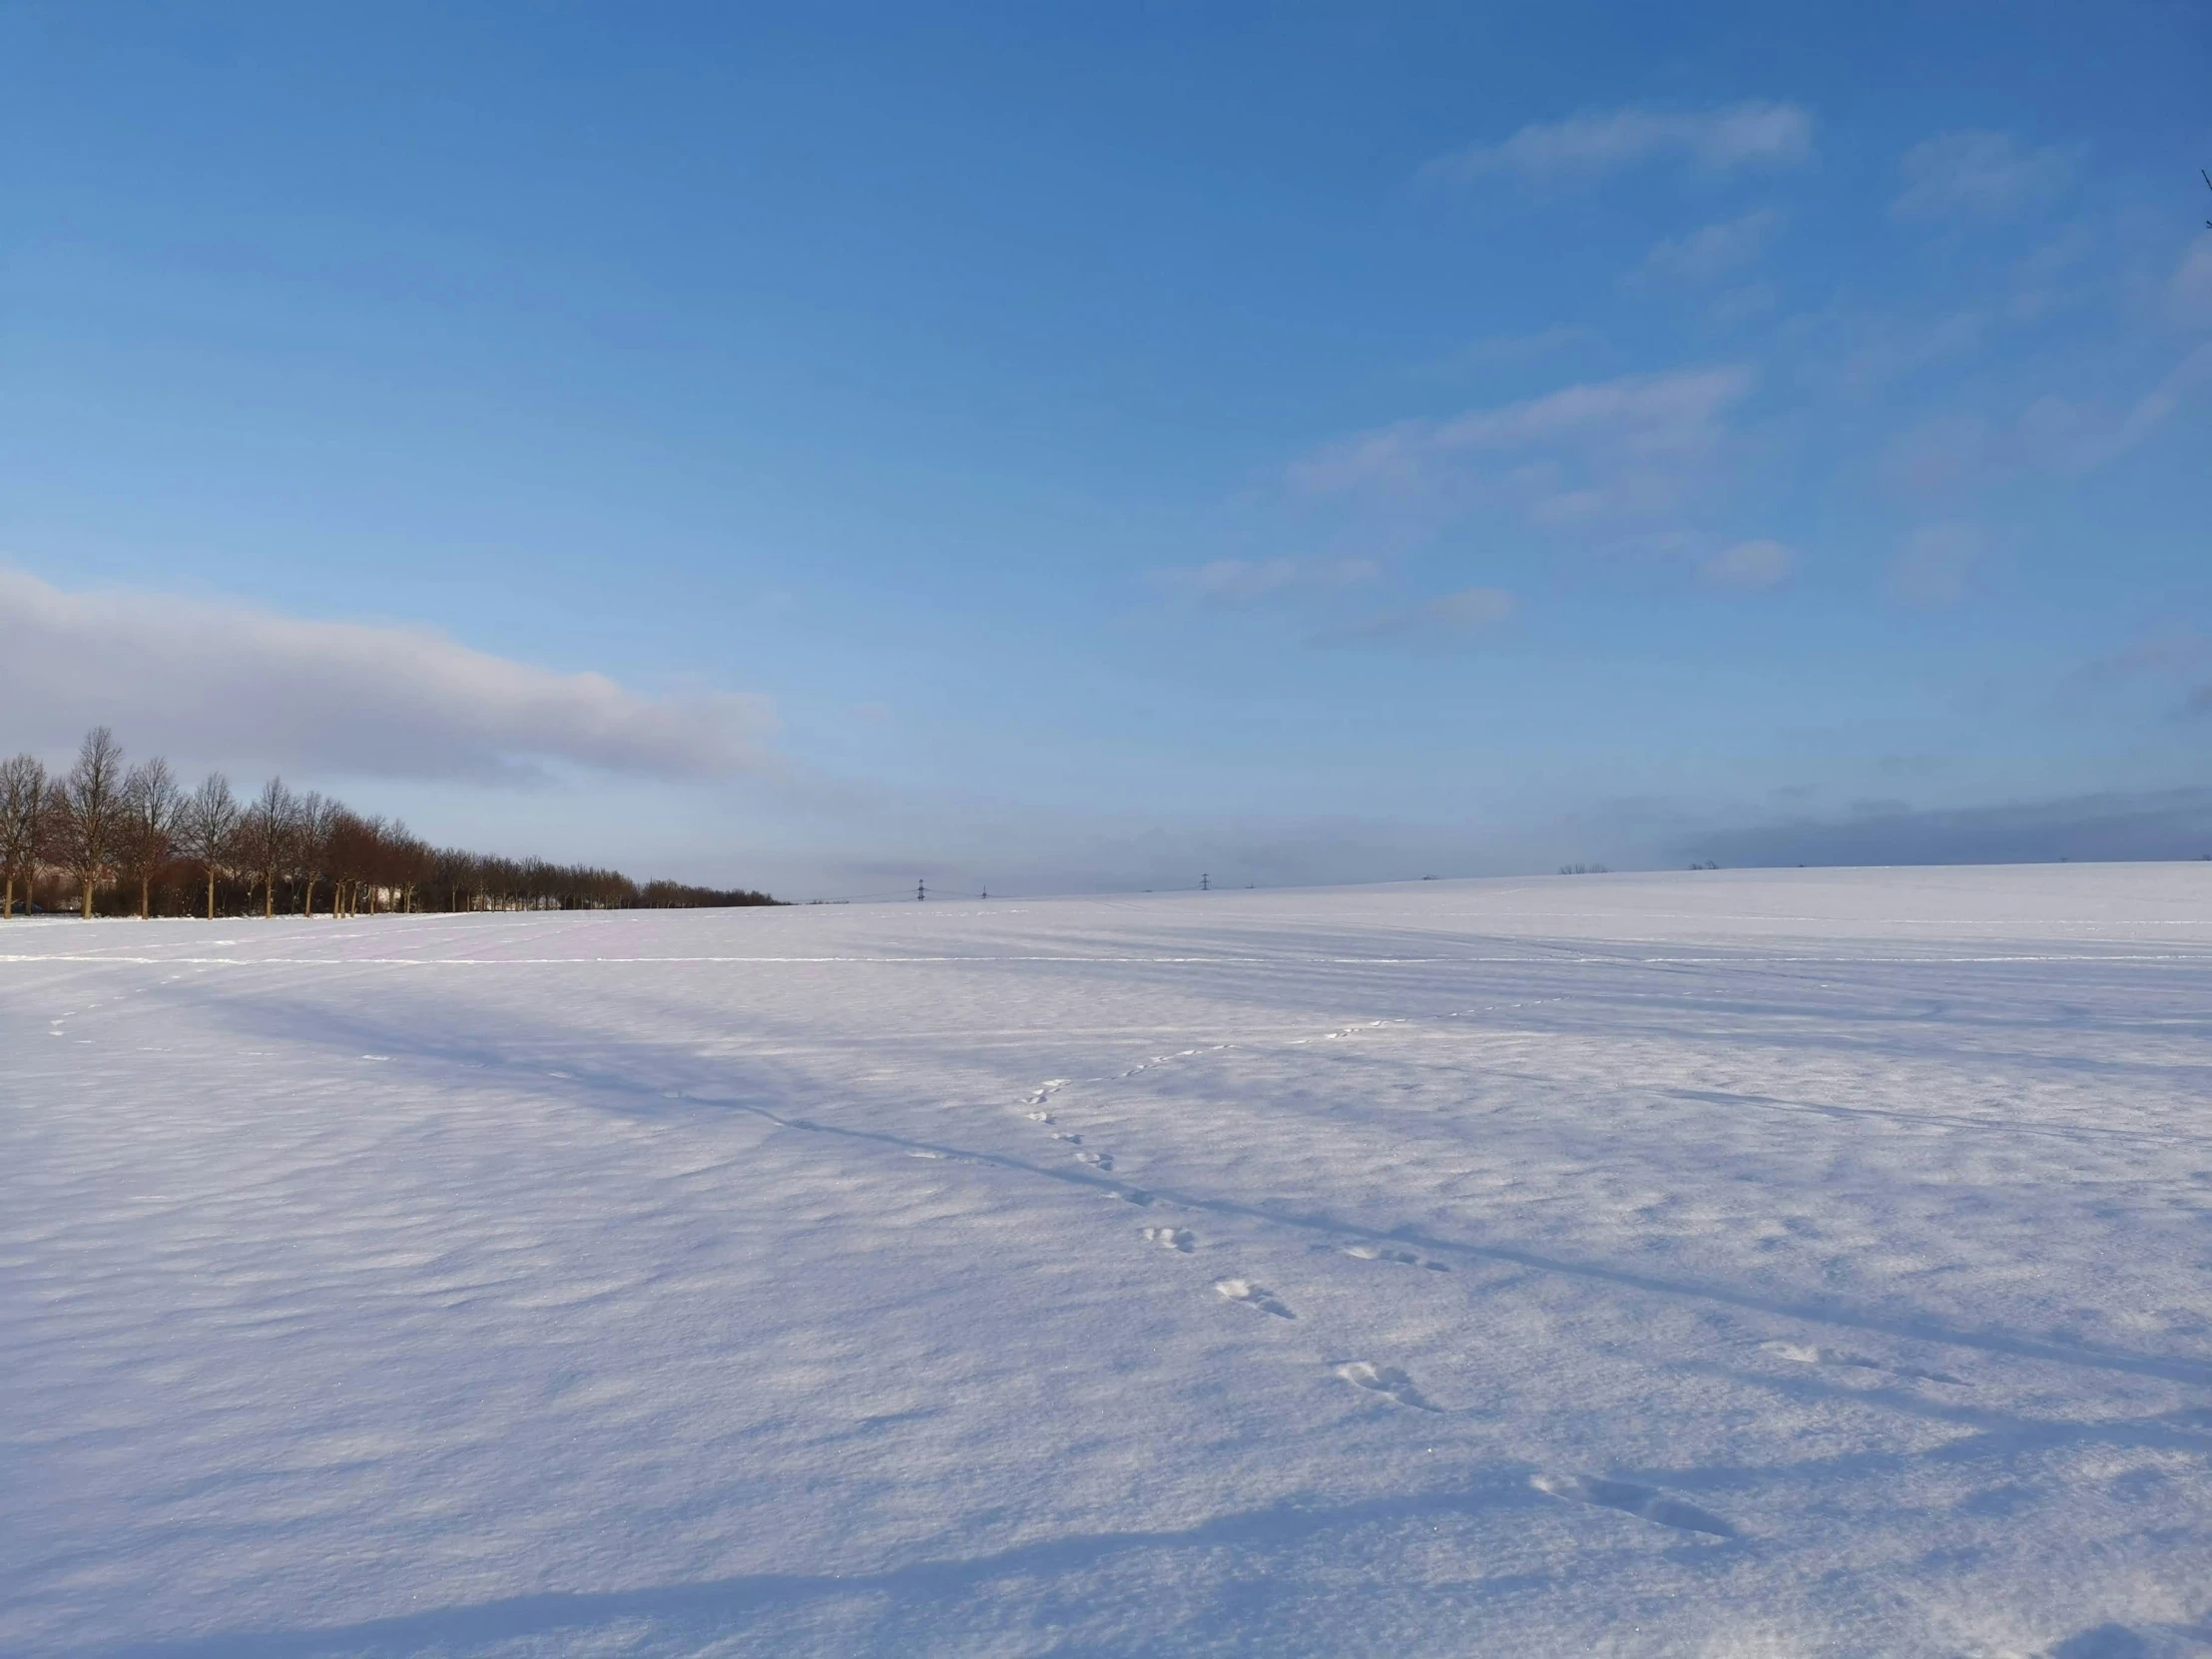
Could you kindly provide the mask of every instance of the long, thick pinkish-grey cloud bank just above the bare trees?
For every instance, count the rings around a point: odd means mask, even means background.
[[[15,741],[106,723],[137,752],[319,776],[515,779],[544,761],[646,776],[763,763],[763,697],[644,697],[427,628],[307,622],[142,588],[66,593],[0,568],[0,708]]]

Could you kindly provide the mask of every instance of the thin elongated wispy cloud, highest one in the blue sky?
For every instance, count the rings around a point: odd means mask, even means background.
[[[1604,173],[1659,157],[1714,173],[1796,166],[1812,155],[1812,115],[1796,104],[1747,102],[1710,111],[1617,108],[1533,122],[1502,144],[1478,144],[1431,161],[1431,173],[1520,173],[1551,179]]]

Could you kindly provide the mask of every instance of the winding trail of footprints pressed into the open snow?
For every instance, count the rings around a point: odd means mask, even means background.
[[[1537,998],[1537,1000],[1555,1002],[1559,998]],[[1522,1006],[1522,1004],[1511,1004],[1511,1006]],[[1444,1018],[1464,1018],[1471,1013],[1484,1013],[1484,1009],[1462,1009]],[[1323,1037],[1318,1037],[1318,1042],[1336,1042],[1354,1033],[1374,1031],[1387,1024],[1402,1024],[1402,1022],[1367,1020],[1354,1026],[1345,1026],[1340,1031],[1329,1031]],[[1316,1042],[1316,1037],[1296,1037],[1294,1046],[1305,1042]],[[1183,1048],[1172,1055],[1152,1055],[1150,1060],[1119,1073],[1119,1079],[1135,1077],[1137,1073],[1168,1064],[1170,1060],[1190,1060],[1194,1055],[1219,1053],[1223,1048],[1234,1048],[1234,1046],[1237,1044],[1221,1042],[1203,1048]],[[1051,1126],[1055,1119],[1053,1113],[1048,1110],[1048,1102],[1062,1088],[1068,1088],[1071,1082],[1073,1082],[1071,1077],[1053,1077],[1051,1082],[1040,1084],[1024,1102],[1029,1108],[1026,1113],[1029,1119],[1035,1124]],[[1073,1130],[1053,1128],[1051,1133],[1053,1141],[1062,1146],[1082,1148],[1084,1144],[1084,1137]],[[1086,1148],[1077,1150],[1073,1157],[1077,1164],[1086,1164],[1088,1168],[1095,1168],[1099,1172],[1113,1170],[1110,1152]],[[1119,1188],[1119,1197],[1133,1203],[1150,1203],[1150,1194],[1135,1188]],[[1172,1250],[1183,1256],[1192,1254],[1199,1248],[1199,1237],[1190,1228],[1152,1225],[1152,1228],[1141,1228],[1139,1237],[1148,1245]],[[1422,1267],[1427,1272],[1438,1272],[1438,1274],[1451,1272],[1449,1263],[1431,1261],[1413,1250],[1387,1243],[1383,1239],[1349,1239],[1336,1245],[1316,1245],[1316,1250],[1334,1250],[1336,1254],[1349,1256],[1352,1261],[1374,1261],[1394,1267]],[[1237,1276],[1217,1279],[1214,1294],[1219,1294],[1232,1307],[1243,1307],[1254,1314],[1267,1314],[1272,1318],[1285,1318],[1285,1321],[1298,1318],[1296,1312],[1292,1312],[1292,1307],[1276,1292],[1267,1290],[1265,1285],[1252,1279],[1237,1279]],[[1876,1360],[1863,1354],[1849,1354],[1832,1347],[1816,1347],[1812,1343],[1761,1343],[1759,1347],[1763,1354],[1796,1365],[1836,1365],[1849,1369],[1880,1371],[1885,1376],[1902,1380],[1947,1383],[1953,1387],[1966,1387],[1964,1378],[1949,1376],[1944,1371],[1929,1371],[1911,1365],[1889,1365],[1887,1360]],[[1376,1365],[1374,1360],[1332,1360],[1329,1369],[1334,1371],[1334,1376],[1343,1378],[1363,1394],[1374,1394],[1407,1411],[1431,1411],[1442,1416],[1449,1409],[1429,1400],[1413,1383],[1413,1378],[1398,1365]],[[1568,1473],[1535,1473],[1528,1478],[1528,1486],[1562,1502],[1613,1509],[1624,1515],[1635,1515],[1637,1520],[1652,1522],[1655,1526],[1670,1526],[1679,1533],[1699,1533],[1703,1537],[1723,1537],[1723,1540],[1739,1537],[1736,1526],[1725,1517],[1699,1509],[1697,1504],[1683,1502],[1681,1498],[1670,1498],[1657,1486],[1641,1486],[1630,1480],[1604,1480],[1597,1475],[1568,1475]]]

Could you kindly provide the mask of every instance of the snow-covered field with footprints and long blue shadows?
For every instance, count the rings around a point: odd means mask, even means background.
[[[0,927],[0,1650],[2199,1655],[2212,865]]]

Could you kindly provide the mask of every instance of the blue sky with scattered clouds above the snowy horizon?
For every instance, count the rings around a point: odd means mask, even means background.
[[[11,4],[0,748],[801,898],[2212,852],[2208,69]]]

